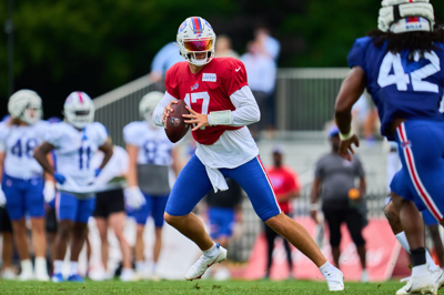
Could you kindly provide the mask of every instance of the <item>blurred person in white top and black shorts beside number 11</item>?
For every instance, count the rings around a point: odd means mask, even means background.
[[[111,139],[108,139],[111,144]],[[99,169],[103,162],[104,153],[98,151],[92,157],[92,166]],[[123,235],[125,224],[125,207],[123,189],[127,185],[128,153],[123,148],[113,145],[112,157],[95,179],[95,211],[93,216],[99,230],[101,241],[103,278],[112,278],[108,272],[109,247],[108,228],[114,232],[122,253],[122,272],[120,279],[129,282],[134,279],[134,271],[131,262],[131,246]]]

